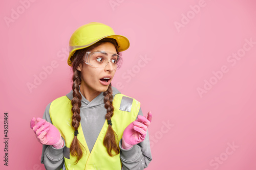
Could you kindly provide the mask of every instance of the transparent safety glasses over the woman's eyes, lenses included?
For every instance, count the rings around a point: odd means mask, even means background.
[[[105,51],[87,52],[85,62],[95,68],[105,68],[111,62],[114,67],[119,69],[122,64],[122,56]]]

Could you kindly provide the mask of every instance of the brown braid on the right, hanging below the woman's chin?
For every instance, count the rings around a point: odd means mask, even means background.
[[[112,95],[111,83],[109,85],[108,90],[103,92],[103,95],[105,96],[104,97],[104,104],[105,104],[105,108],[106,108],[105,118],[106,118],[106,120],[110,120],[114,114],[113,113],[114,106],[112,104],[113,95]],[[115,155],[119,154],[120,151],[117,147],[117,143],[118,143],[118,136],[117,136],[116,132],[112,129],[112,126],[109,125],[108,130],[106,130],[103,144],[106,147],[106,149],[108,150],[108,154],[110,156],[114,156],[112,154],[112,150],[114,151]]]

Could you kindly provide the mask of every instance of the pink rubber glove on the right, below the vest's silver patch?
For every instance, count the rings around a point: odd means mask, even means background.
[[[122,148],[129,150],[133,145],[142,142],[146,137],[146,131],[151,124],[151,120],[151,112],[147,113],[147,117],[138,115],[138,119],[128,125],[123,131]]]

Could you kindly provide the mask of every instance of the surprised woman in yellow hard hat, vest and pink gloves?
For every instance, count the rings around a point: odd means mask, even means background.
[[[70,93],[51,102],[31,128],[43,144],[46,169],[144,169],[152,160],[140,103],[121,94],[111,81],[120,68],[119,52],[129,40],[112,28],[91,22],[70,38]]]

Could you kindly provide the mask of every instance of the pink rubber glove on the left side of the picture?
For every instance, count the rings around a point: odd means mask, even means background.
[[[59,149],[63,147],[64,141],[58,129],[45,119],[33,117],[30,122],[30,128],[35,132],[37,140],[41,144],[52,145]]]

